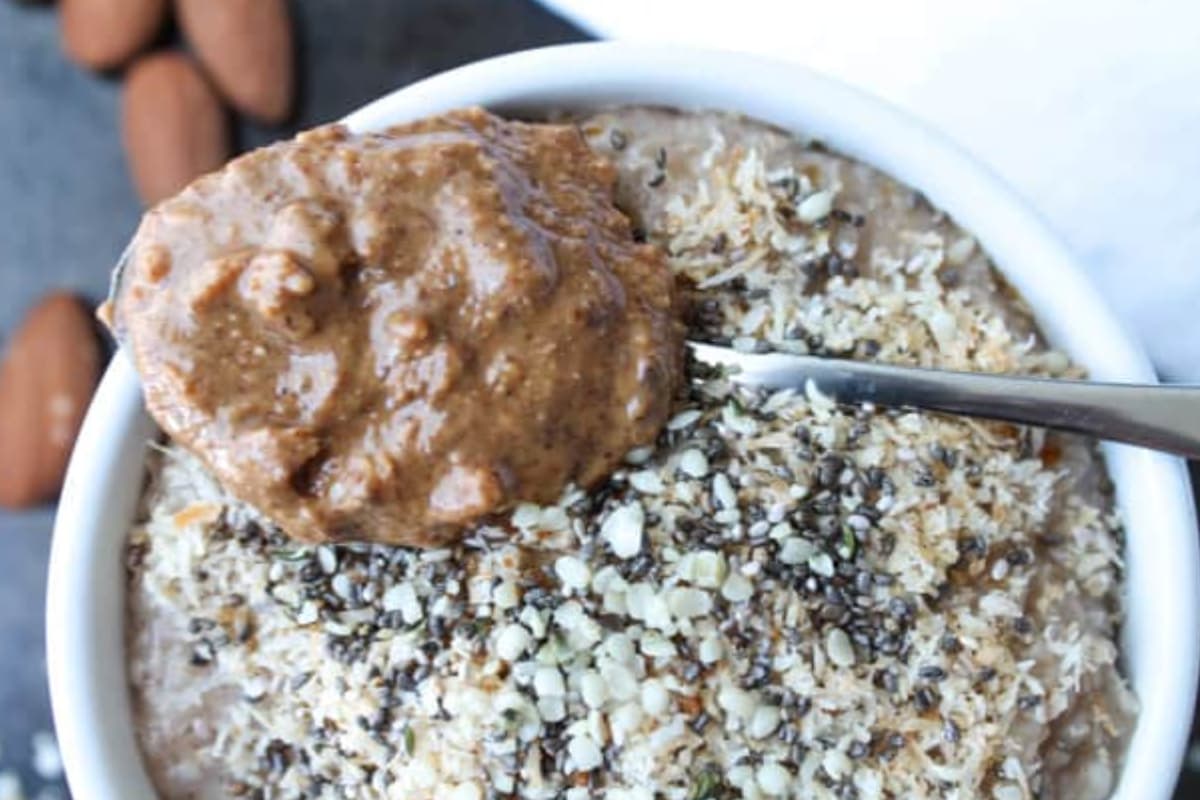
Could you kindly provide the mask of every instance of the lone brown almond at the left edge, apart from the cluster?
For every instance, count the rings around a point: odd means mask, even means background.
[[[91,314],[65,291],[13,332],[0,361],[0,506],[37,505],[61,488],[101,356]]]

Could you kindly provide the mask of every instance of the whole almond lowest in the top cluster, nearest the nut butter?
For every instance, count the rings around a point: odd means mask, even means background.
[[[221,101],[180,53],[133,62],[121,98],[121,138],[133,185],[146,205],[178,193],[229,157]]]

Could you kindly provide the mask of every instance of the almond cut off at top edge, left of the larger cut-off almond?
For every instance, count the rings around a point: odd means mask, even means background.
[[[112,70],[143,50],[162,29],[167,0],[62,0],[62,50],[89,70]]]

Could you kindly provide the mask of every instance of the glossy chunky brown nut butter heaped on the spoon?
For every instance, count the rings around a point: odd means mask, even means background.
[[[151,210],[115,325],[162,428],[289,535],[451,541],[666,419],[672,277],[614,180],[478,109],[319,128]]]

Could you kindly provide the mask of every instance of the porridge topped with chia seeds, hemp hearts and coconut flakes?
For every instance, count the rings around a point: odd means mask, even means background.
[[[952,221],[738,118],[580,120],[746,349],[1078,374]],[[1087,441],[737,389],[455,547],[310,546],[157,449],[130,679],[169,798],[1103,798],[1136,712]]]

